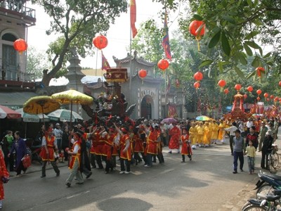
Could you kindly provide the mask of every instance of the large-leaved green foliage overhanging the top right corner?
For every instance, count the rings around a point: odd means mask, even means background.
[[[263,66],[268,75],[270,68],[281,63],[270,54],[263,56],[261,48],[263,44],[276,44],[274,52],[277,54],[280,51],[277,46],[281,46],[281,31],[278,27],[281,1],[222,0],[214,4],[213,0],[190,0],[190,8],[191,14],[185,9],[188,15],[179,20],[181,32],[186,39],[192,37],[186,30],[191,20],[204,21],[207,30],[201,45],[207,44],[209,49],[220,52],[218,58],[214,58],[214,63],[209,64],[212,67],[216,65],[222,71],[226,65],[232,64],[237,74],[243,76],[235,67],[247,65],[247,56],[255,56],[252,67]]]

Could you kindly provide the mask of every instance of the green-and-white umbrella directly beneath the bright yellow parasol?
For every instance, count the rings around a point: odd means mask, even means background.
[[[70,116],[72,115],[72,116]],[[60,121],[60,122],[63,122],[63,121],[67,121],[67,122],[75,122],[77,120],[83,120],[83,118],[76,112],[72,111],[71,110],[65,110],[65,109],[58,109],[58,110],[55,110],[51,113],[49,113],[47,115],[50,120],[54,120],[54,121]]]

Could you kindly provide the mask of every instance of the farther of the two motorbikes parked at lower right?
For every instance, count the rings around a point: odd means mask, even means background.
[[[258,193],[267,195],[273,190],[281,190],[281,177],[275,174],[268,174],[266,172],[260,171],[259,181],[256,183],[256,198],[259,198]]]

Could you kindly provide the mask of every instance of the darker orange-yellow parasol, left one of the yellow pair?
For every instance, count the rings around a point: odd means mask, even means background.
[[[60,108],[60,103],[54,101],[50,96],[35,96],[23,104],[23,111],[29,114],[50,113]],[[45,119],[43,116],[43,122]]]

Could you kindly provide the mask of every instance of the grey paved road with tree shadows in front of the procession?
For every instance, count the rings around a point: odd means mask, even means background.
[[[258,153],[256,166],[260,156]],[[169,154],[168,148],[164,148],[164,158],[164,165],[133,166],[131,174],[93,170],[83,185],[73,182],[70,188],[65,186],[66,166],[60,167],[60,177],[47,170],[47,177],[41,179],[40,166],[33,164],[30,173],[12,177],[5,184],[2,210],[234,211],[254,194],[251,189],[257,174],[249,175],[247,162],[245,172],[233,174],[233,156],[227,144],[198,148],[191,162],[181,163],[181,155]]]

